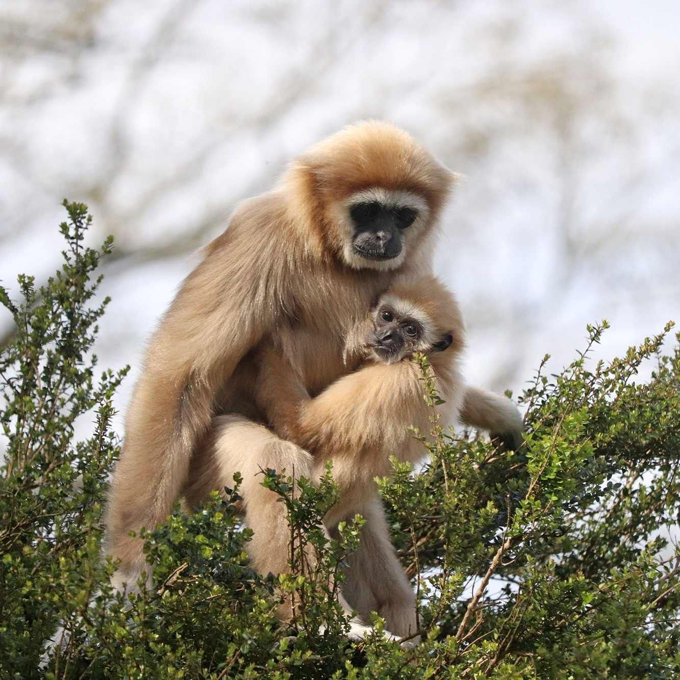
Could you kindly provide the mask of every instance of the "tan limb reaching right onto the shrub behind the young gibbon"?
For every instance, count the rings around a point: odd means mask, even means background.
[[[468,385],[463,396],[460,419],[465,424],[488,430],[492,439],[500,439],[509,449],[516,451],[524,441],[522,415],[506,396]]]

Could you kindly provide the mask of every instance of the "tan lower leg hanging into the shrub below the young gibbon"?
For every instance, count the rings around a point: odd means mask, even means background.
[[[347,602],[368,622],[375,611],[385,619],[385,627],[398,637],[418,630],[415,619],[415,594],[396,550],[380,499],[373,496],[366,505],[354,508],[366,520],[359,536],[359,548],[347,558],[342,592]],[[337,526],[337,524],[335,525]],[[331,533],[337,533],[333,530]]]

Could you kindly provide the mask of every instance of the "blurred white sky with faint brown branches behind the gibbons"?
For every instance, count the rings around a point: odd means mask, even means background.
[[[124,409],[235,203],[309,143],[386,118],[466,175],[437,272],[468,377],[518,392],[589,322],[612,324],[605,358],[680,322],[678,35],[670,0],[3,0],[0,279],[44,280],[61,200],[90,205],[92,243],[116,237],[98,354],[133,366]]]

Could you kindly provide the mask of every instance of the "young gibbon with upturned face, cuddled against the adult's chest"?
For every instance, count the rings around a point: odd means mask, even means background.
[[[343,606],[356,609],[359,622],[368,622],[371,611],[376,611],[390,633],[412,635],[415,597],[390,543],[375,477],[388,475],[390,456],[415,462],[424,454],[420,440],[407,430],[412,425],[427,436],[432,428],[432,408],[424,400],[422,371],[413,354],[428,356],[437,392],[445,400],[445,422],[458,420],[466,401],[481,399],[479,413],[486,420],[477,425],[499,427],[497,435],[518,445],[522,418],[504,396],[465,386],[458,367],[464,345],[462,316],[454,296],[435,277],[392,286],[356,326],[349,343],[349,351],[363,356],[364,365],[313,398],[284,352],[274,345],[263,348],[258,403],[276,432],[284,432],[311,454],[313,478],[324,474],[326,461],[333,462],[339,500],[324,517],[329,532],[356,513],[367,520],[359,550],[349,560]],[[253,450],[267,437],[262,425],[239,418],[218,421],[216,458],[233,469],[244,446]],[[254,554],[254,560],[278,561],[279,569],[285,570],[282,556]]]

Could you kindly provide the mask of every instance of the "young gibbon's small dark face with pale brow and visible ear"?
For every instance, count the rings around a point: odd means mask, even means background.
[[[367,345],[378,362],[393,364],[415,352],[443,352],[452,341],[451,333],[438,332],[420,309],[388,294],[375,309]]]

